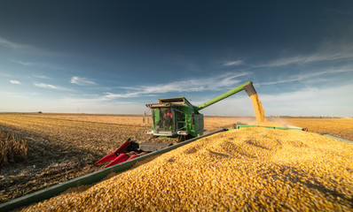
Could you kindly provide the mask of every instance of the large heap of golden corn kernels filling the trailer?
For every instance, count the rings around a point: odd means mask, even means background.
[[[316,133],[217,133],[23,211],[348,211],[352,153],[350,143]]]

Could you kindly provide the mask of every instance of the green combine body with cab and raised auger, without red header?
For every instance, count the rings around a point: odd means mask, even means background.
[[[158,103],[146,104],[152,110],[153,123],[152,129],[145,133],[153,136],[179,136],[179,141],[198,137],[204,132],[203,115],[199,111],[242,90],[249,96],[256,94],[253,83],[248,81],[197,107],[185,97],[160,99]]]

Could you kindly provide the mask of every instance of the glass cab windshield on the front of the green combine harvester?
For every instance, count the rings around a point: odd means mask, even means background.
[[[153,126],[157,131],[174,131],[174,116],[170,108],[152,110]]]

